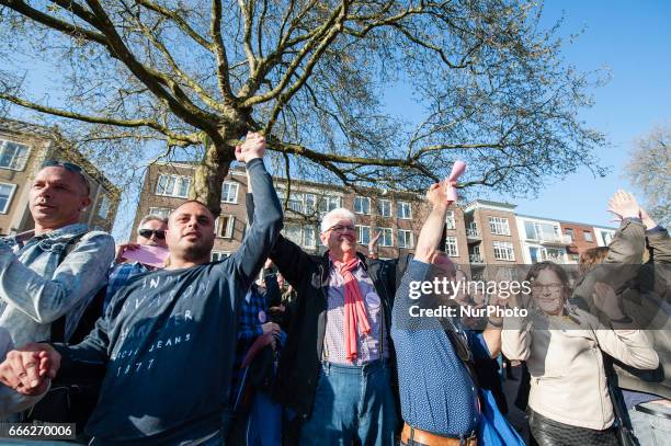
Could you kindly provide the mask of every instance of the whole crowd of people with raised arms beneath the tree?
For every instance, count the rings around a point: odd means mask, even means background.
[[[671,438],[671,242],[634,196],[610,201],[619,229],[610,247],[582,254],[578,277],[541,262],[525,270],[531,293],[418,299],[413,283],[468,278],[444,247],[454,184],[428,190],[413,255],[378,259],[375,238],[360,252],[344,208],[322,216],[326,253],[315,255],[281,233],[264,151],[259,134],[236,148],[249,229],[216,262],[204,204],[146,216],[136,241],[115,247],[78,222],[90,204],[81,169],[45,164],[30,191],[34,230],[0,239],[0,419],[76,423],[77,441],[94,445]],[[169,256],[128,260],[143,247]],[[416,318],[412,306],[526,311]],[[522,364],[527,439],[505,418],[501,358],[508,377],[511,362]]]

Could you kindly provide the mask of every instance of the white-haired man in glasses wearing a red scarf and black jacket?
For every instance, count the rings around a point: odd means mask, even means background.
[[[333,209],[321,221],[323,255],[282,236],[270,255],[297,293],[275,386],[296,415],[284,430],[287,444],[395,444],[394,268],[356,252],[354,225],[350,210]]]

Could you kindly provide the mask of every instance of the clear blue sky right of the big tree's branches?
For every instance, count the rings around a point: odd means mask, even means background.
[[[611,71],[611,81],[593,91],[595,105],[581,118],[609,137],[612,147],[599,156],[612,171],[594,179],[583,168],[548,185],[537,198],[512,202],[520,214],[613,226],[606,202],[618,187],[630,187],[624,167],[634,139],[671,122],[671,2],[548,1],[544,18],[549,22],[562,12],[561,35],[584,28],[564,47],[567,62],[581,71],[602,66]],[[507,199],[498,194],[491,198]]]

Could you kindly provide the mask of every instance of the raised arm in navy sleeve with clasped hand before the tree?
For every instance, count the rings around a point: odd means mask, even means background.
[[[249,184],[257,204],[242,245],[231,256],[246,289],[261,271],[283,225],[280,201],[273,181],[263,165],[264,151],[265,139],[258,134],[248,134],[244,144],[236,148],[236,158],[247,164]]]

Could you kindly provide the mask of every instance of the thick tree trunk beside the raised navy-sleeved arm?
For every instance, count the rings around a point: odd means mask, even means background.
[[[209,137],[204,138],[203,146],[205,156],[196,167],[189,198],[203,203],[218,217],[221,213],[221,184],[228,174],[230,162],[235,159],[235,148],[217,145]]]

